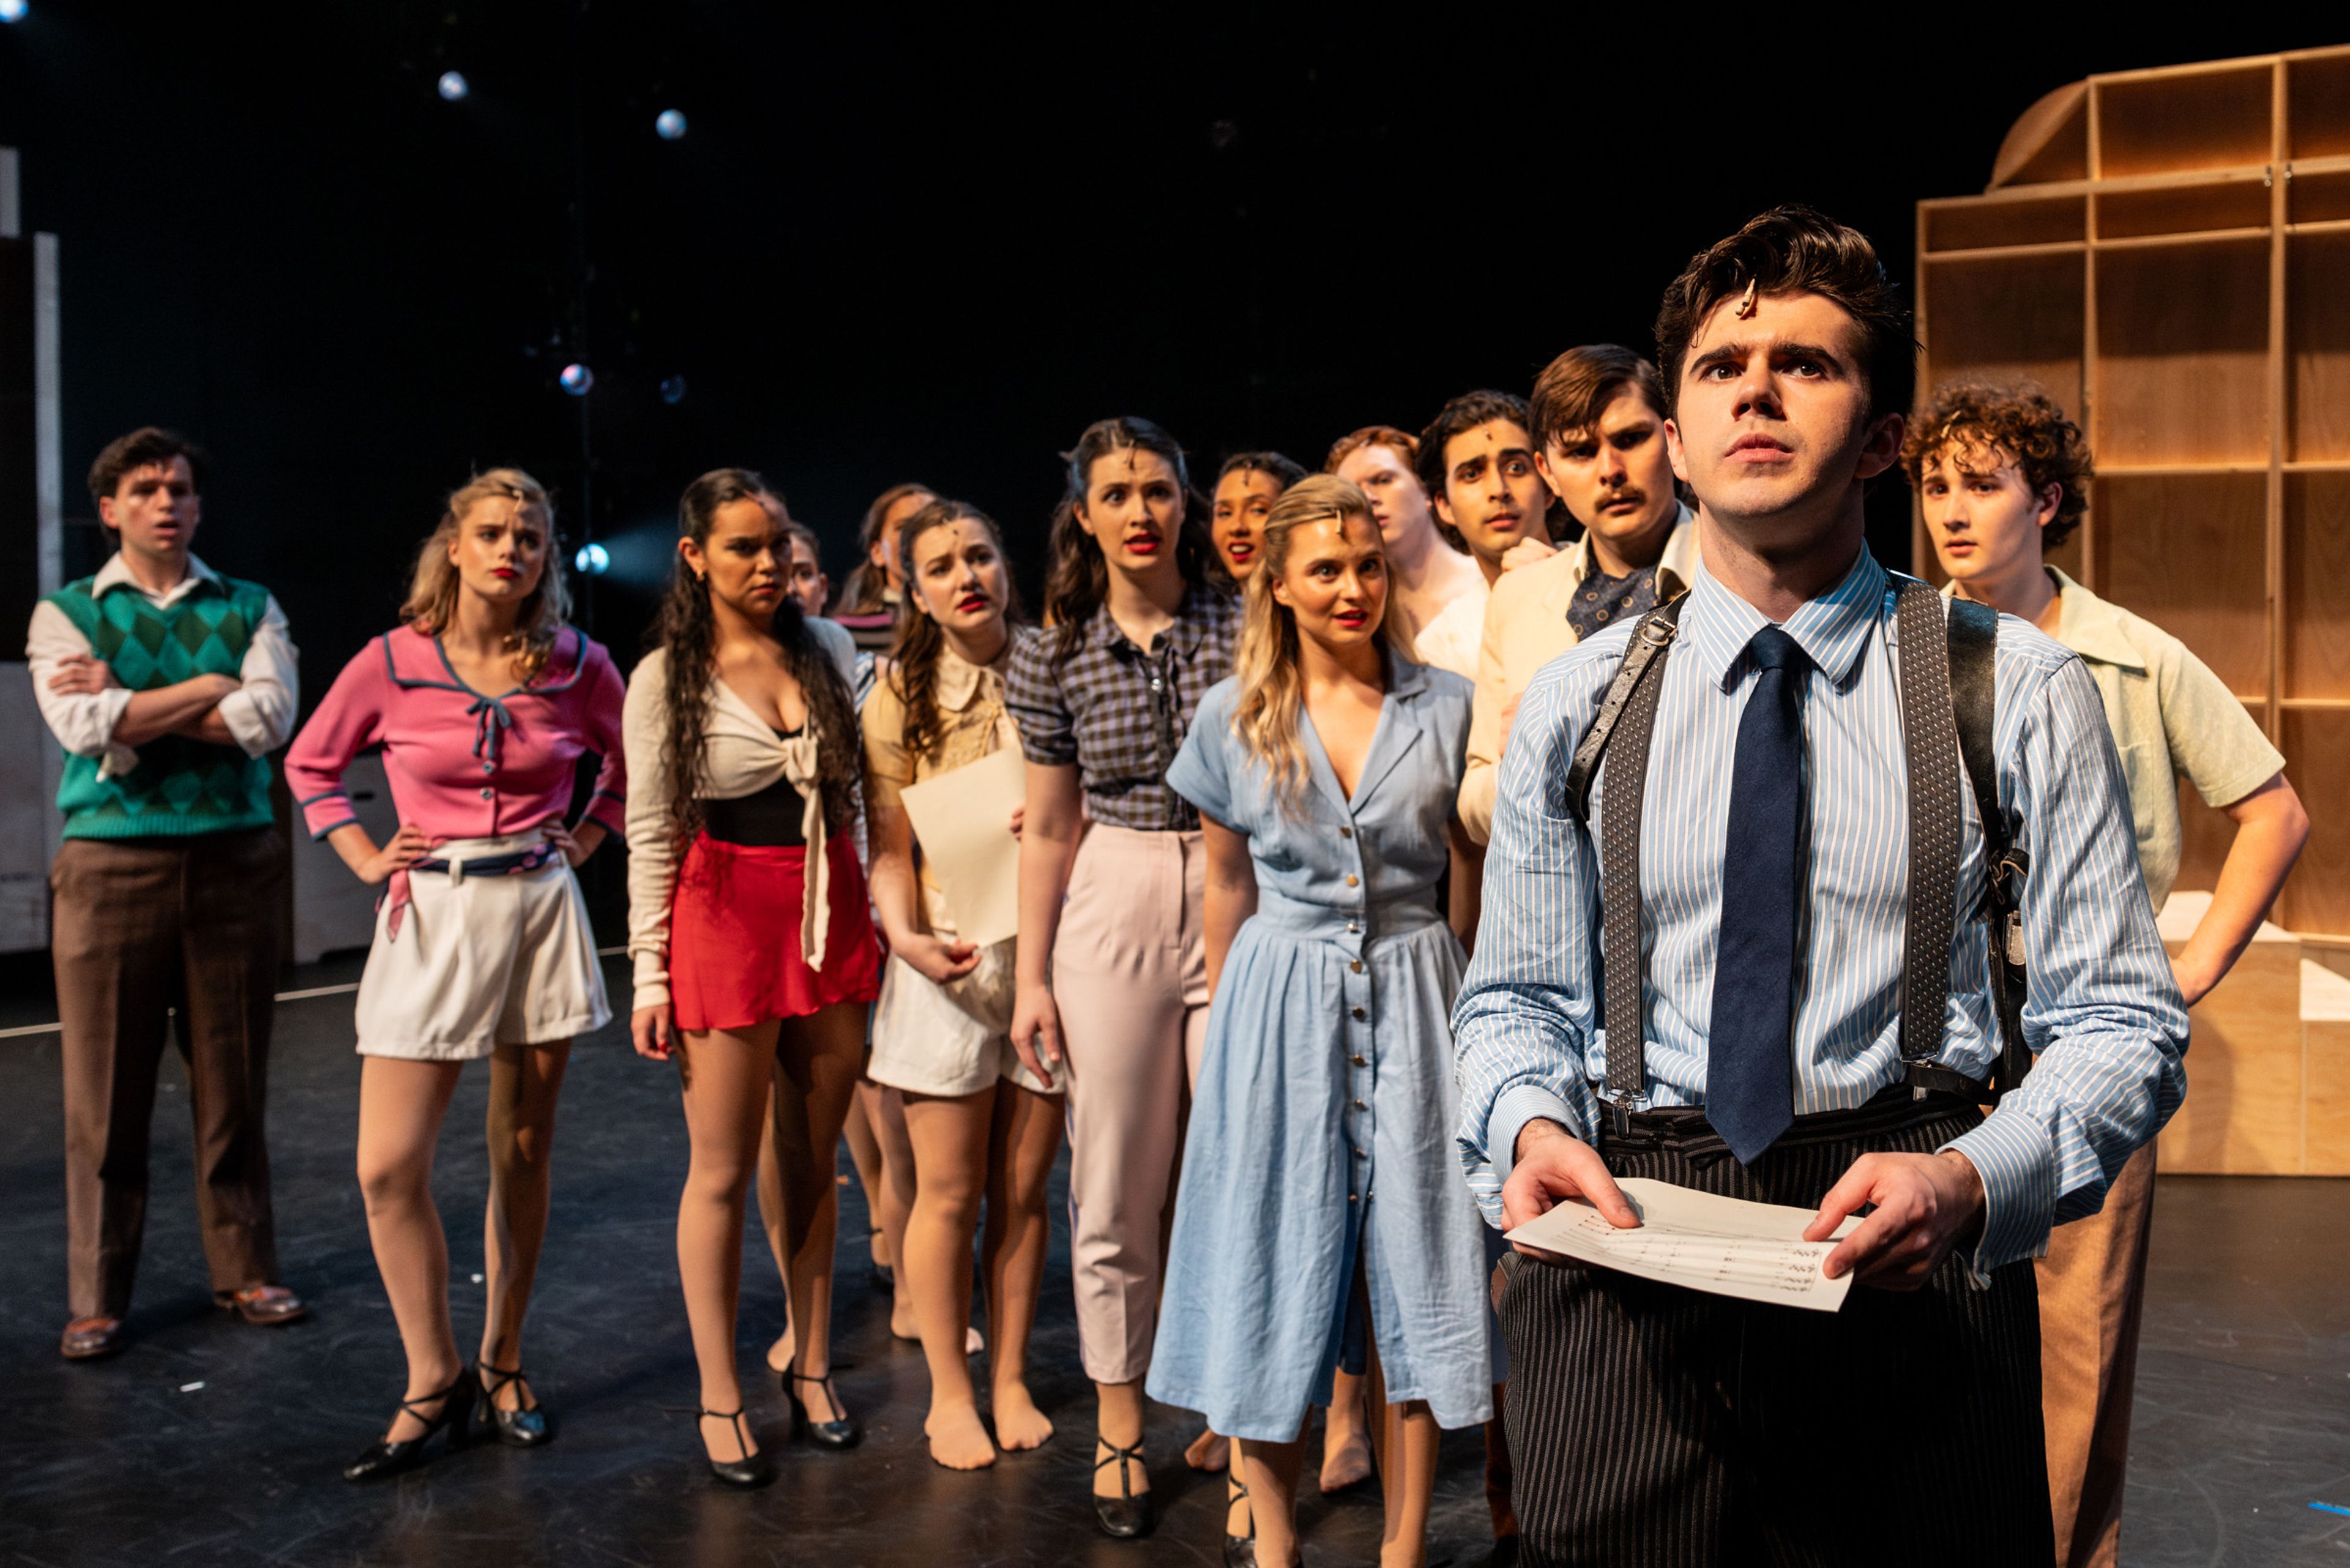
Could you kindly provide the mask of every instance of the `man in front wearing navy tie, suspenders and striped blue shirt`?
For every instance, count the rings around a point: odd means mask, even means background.
[[[2028,1260],[2186,1093],[2096,684],[1871,559],[1915,343],[1866,237],[1753,219],[1666,289],[1657,348],[1701,559],[1525,689],[1452,1016],[1457,1140],[1497,1225],[1579,1199],[1636,1227],[1617,1178],[1643,1175],[1807,1208],[1807,1241],[1856,1220],[1821,1269],[1859,1288],[1798,1312],[1506,1258],[1523,1552],[2049,1563]],[[1986,698],[1990,820],[2030,856],[2000,926],[2028,1077],[2002,1067],[1993,839],[1965,804]]]

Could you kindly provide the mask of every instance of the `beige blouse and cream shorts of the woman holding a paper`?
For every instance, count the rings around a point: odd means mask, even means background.
[[[973,665],[952,649],[938,658],[938,722],[945,731],[928,755],[905,750],[905,693],[898,677],[879,682],[865,698],[867,804],[902,809],[907,785],[952,773],[989,752],[1020,743],[1020,731],[1003,710],[1003,665],[1010,642],[994,665]],[[1006,832],[1010,825],[1006,823]],[[954,940],[954,917],[935,872],[914,846],[921,879],[916,917],[924,926]],[[874,1084],[926,1095],[971,1095],[996,1079],[1010,1079],[1036,1093],[1055,1086],[1020,1065],[1010,1044],[1013,952],[1018,938],[980,950],[980,964],[968,976],[938,985],[905,959],[891,954],[881,976],[881,1006],[874,1011],[874,1048],[865,1074]]]

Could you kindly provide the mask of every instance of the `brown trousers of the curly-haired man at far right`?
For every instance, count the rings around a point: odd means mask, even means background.
[[[2113,1568],[2122,1544],[2153,1222],[2155,1145],[2146,1145],[2122,1166],[2106,1206],[2059,1225],[2040,1260],[2040,1403],[2059,1568]]]

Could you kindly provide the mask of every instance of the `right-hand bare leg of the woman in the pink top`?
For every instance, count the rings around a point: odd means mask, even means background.
[[[548,1185],[555,1159],[555,1098],[564,1091],[571,1041],[498,1046],[489,1058],[489,1211],[482,1215],[482,1363],[522,1366],[522,1316],[531,1309],[538,1248],[548,1239]],[[501,1410],[538,1406],[519,1378],[498,1389]]]

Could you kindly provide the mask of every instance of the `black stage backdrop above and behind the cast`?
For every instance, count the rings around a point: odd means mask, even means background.
[[[1664,282],[1760,207],[1814,202],[1908,280],[1911,205],[1979,190],[2042,92],[2343,33],[2317,9],[2193,33],[2056,7],[1006,9],[33,0],[0,26],[0,143],[26,226],[63,240],[68,512],[110,435],[204,440],[197,548],[280,592],[310,698],[489,463],[548,480],[573,543],[632,536],[623,569],[658,567],[691,475],[757,465],[834,581],[865,501],[919,477],[992,510],[1034,585],[1090,418],[1159,418],[1201,465],[1316,465],[1354,425],[1523,393],[1570,343],[1650,348]],[[571,357],[585,400],[557,388]],[[1906,550],[1904,496],[1875,510]],[[646,604],[616,574],[585,607],[623,663]]]

